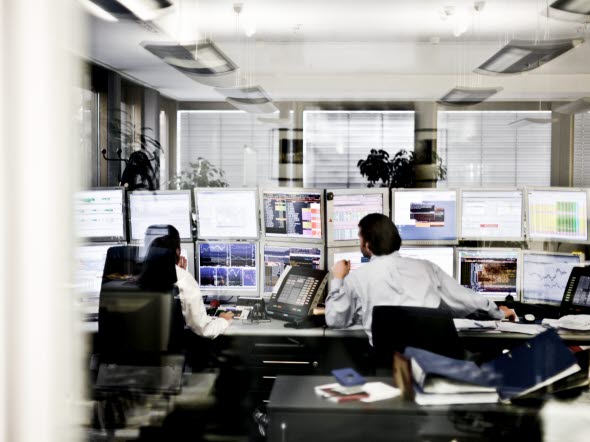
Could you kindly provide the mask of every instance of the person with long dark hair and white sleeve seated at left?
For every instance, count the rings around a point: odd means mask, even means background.
[[[154,231],[167,232],[166,235],[153,238]],[[152,238],[148,236],[152,235]],[[176,285],[180,292],[182,314],[186,325],[196,334],[204,338],[214,339],[229,327],[233,313],[224,312],[219,318],[207,315],[199,284],[186,269],[186,258],[180,255],[180,234],[174,226],[150,226],[146,233],[146,244],[149,243],[147,257],[154,255],[155,249],[172,251],[176,261]]]

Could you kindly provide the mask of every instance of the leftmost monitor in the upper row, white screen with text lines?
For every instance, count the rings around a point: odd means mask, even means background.
[[[125,241],[124,190],[95,189],[76,192],[76,236],[87,241]]]

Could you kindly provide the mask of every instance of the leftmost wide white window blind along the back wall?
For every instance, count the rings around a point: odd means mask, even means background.
[[[197,158],[221,168],[231,187],[274,185],[278,177],[276,134],[242,111],[179,111],[178,168]]]

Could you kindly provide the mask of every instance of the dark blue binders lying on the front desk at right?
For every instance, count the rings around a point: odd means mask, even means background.
[[[469,393],[495,390],[500,400],[510,401],[580,370],[575,356],[554,330],[547,330],[481,366],[412,347],[404,355],[411,359],[416,392],[420,393],[417,398],[429,392],[443,396],[465,394],[468,402]],[[457,403],[454,400],[452,403]]]

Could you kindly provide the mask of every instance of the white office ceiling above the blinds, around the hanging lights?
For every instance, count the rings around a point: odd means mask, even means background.
[[[189,0],[187,0],[189,1]],[[194,4],[195,0],[190,0]],[[578,23],[539,14],[542,0],[243,0],[240,23],[256,33],[255,55],[237,41],[233,1],[200,0],[163,17],[153,33],[135,22],[86,16],[85,57],[179,100],[222,101],[139,43],[209,37],[275,100],[436,100],[457,84],[502,86],[497,100],[573,99],[590,94],[590,42],[529,73],[476,77],[473,68],[512,38],[583,36]],[[441,18],[445,6],[455,12]],[[455,37],[454,31],[465,30]],[[240,33],[243,40],[243,33]],[[438,44],[431,38],[439,38]]]

